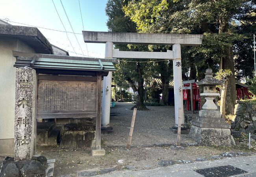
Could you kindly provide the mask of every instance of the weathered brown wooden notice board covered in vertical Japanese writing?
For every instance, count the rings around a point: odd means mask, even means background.
[[[38,119],[96,116],[94,77],[41,76],[37,88]]]

